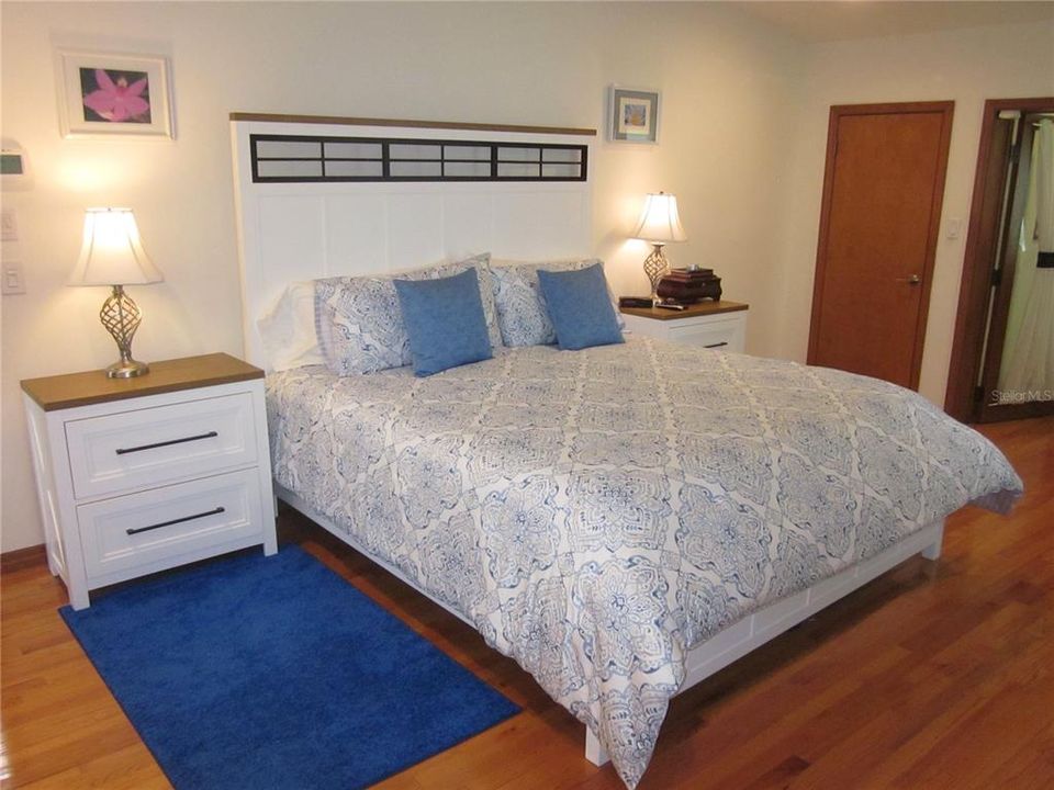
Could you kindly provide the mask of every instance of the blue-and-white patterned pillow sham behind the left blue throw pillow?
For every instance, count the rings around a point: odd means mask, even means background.
[[[491,346],[502,346],[491,282],[491,255],[397,274],[315,280],[315,332],[326,366],[337,375],[375,373],[413,362],[394,278],[435,280],[475,269]]]

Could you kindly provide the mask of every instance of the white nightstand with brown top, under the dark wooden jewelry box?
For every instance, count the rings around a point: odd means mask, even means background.
[[[747,343],[747,311],[739,302],[704,300],[684,311],[661,307],[623,307],[626,328],[639,335],[743,353]]]

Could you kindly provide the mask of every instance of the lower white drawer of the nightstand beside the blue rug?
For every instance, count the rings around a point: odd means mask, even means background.
[[[77,508],[88,578],[159,571],[226,546],[260,542],[256,469]]]

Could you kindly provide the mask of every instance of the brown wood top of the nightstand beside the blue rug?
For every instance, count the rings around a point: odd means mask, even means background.
[[[42,409],[55,411],[264,377],[264,371],[259,368],[225,353],[183,357],[149,364],[150,372],[136,379],[108,379],[105,371],[94,370],[26,379],[22,382],[22,390]]]

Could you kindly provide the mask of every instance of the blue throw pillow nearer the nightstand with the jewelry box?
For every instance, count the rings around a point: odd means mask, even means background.
[[[625,342],[601,263],[579,271],[539,269],[538,284],[561,349],[569,351]]]

